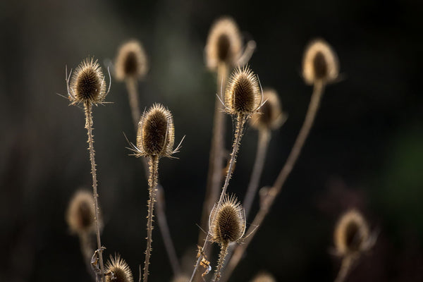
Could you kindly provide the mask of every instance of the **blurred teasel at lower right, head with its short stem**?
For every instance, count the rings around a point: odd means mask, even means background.
[[[345,212],[336,223],[333,233],[336,255],[342,258],[341,269],[336,282],[345,281],[353,264],[376,243],[376,235],[371,234],[367,221],[355,209]]]

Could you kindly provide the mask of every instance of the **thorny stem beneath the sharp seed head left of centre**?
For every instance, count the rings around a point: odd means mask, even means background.
[[[148,266],[149,259],[152,252],[152,231],[153,231],[153,210],[154,202],[156,201],[156,188],[157,188],[157,176],[159,173],[159,156],[153,155],[149,157],[149,200],[147,201],[148,214],[147,214],[147,249],[145,250],[145,262],[144,262],[144,282],[147,282],[148,278]]]

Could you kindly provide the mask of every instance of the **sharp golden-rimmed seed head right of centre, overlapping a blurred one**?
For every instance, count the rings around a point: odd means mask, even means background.
[[[228,114],[253,114],[261,102],[262,92],[257,75],[248,66],[236,68],[226,85],[225,106]]]

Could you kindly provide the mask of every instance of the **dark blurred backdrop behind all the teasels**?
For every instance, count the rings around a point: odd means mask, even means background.
[[[312,87],[300,76],[314,37],[336,50],[343,80],[327,87],[314,128],[271,213],[231,281],[269,271],[277,281],[332,281],[333,228],[355,207],[379,230],[348,281],[423,280],[422,2],[419,1],[1,1],[0,280],[90,281],[65,212],[91,189],[82,109],[66,95],[65,66],[87,56],[103,68],[121,43],[139,39],[149,57],[142,109],[173,112],[179,159],[163,159],[160,180],[176,252],[192,271],[207,178],[215,77],[204,45],[216,18],[232,16],[257,49],[250,60],[289,114],[273,133],[261,186],[271,185],[305,117]],[[94,108],[99,201],[106,256],[119,252],[137,279],[144,261],[147,180],[125,147],[135,141],[125,85],[113,81]],[[228,118],[226,144],[231,144]],[[257,145],[246,130],[228,191],[245,193]],[[257,211],[255,203],[252,214]],[[171,281],[159,228],[151,281]],[[217,246],[214,245],[215,250]],[[212,262],[212,265],[215,262]]]

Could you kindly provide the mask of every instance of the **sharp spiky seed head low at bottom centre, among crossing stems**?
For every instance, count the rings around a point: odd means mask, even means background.
[[[234,195],[226,195],[218,207],[214,205],[209,217],[212,242],[228,244],[239,242],[245,233],[245,212]]]

